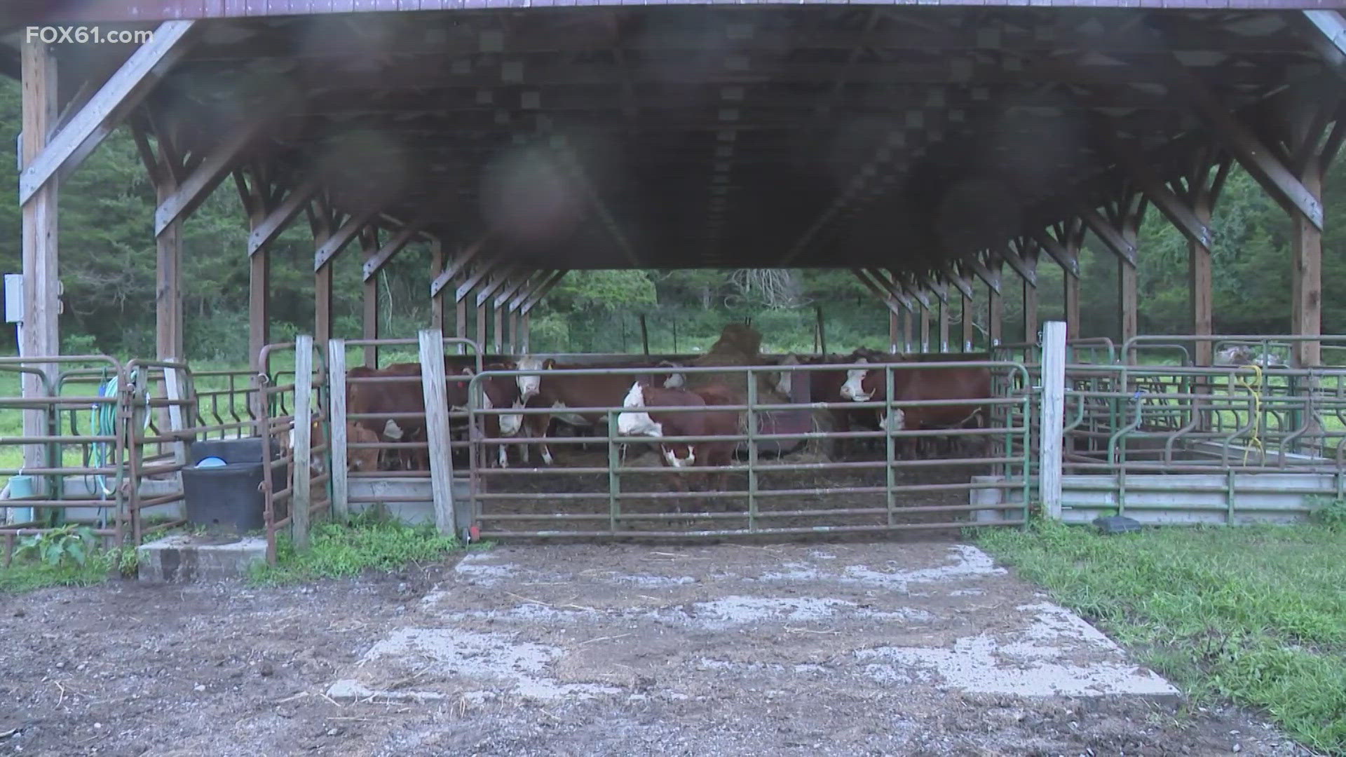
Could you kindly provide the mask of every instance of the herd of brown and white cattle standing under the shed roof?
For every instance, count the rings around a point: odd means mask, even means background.
[[[884,401],[887,380],[884,364],[903,362],[902,356],[890,356],[876,350],[860,349],[849,356],[786,356],[783,358],[762,357],[758,365],[828,365],[816,370],[769,370],[766,378],[782,397],[791,403],[849,403]],[[468,380],[475,373],[476,360],[472,356],[446,356],[446,391],[452,409],[467,408]],[[568,369],[603,368],[631,369],[633,373],[568,373]],[[564,365],[555,360],[541,360],[522,356],[513,360],[495,360],[483,365],[485,370],[529,372],[518,376],[485,376],[478,380],[482,389],[481,407],[493,408],[537,408],[549,412],[529,414],[482,414],[482,432],[487,439],[525,438],[532,442],[517,445],[498,443],[486,446],[490,450],[487,466],[509,466],[509,447],[517,446],[522,462],[530,459],[530,447],[537,446],[541,461],[553,465],[556,458],[546,439],[556,436],[556,423],[576,430],[592,428],[595,435],[606,436],[603,426],[607,412],[583,408],[622,408],[618,415],[618,434],[623,438],[661,436],[727,436],[742,434],[744,411],[716,409],[723,405],[744,404],[743,392],[735,391],[732,383],[715,378],[709,383],[689,380],[705,377],[707,373],[684,373],[685,365],[661,361],[631,361],[627,364],[606,364],[602,366]],[[421,365],[419,362],[394,364],[374,369],[351,368],[347,372],[346,409],[350,418],[347,438],[355,443],[401,443],[382,453],[370,447],[350,449],[347,465],[351,470],[428,470],[429,459],[424,449],[425,404],[421,387]],[[816,411],[816,416],[833,431],[852,430],[948,430],[969,426],[984,426],[987,420],[987,400],[991,397],[991,372],[976,366],[940,366],[919,364],[892,372],[892,401],[913,403],[922,400],[966,400],[940,405],[910,405],[894,408],[887,418],[884,408],[829,408]],[[759,400],[766,403],[770,400]],[[670,411],[661,408],[697,408],[690,411]],[[765,415],[765,412],[762,414]],[[466,418],[458,416],[451,428],[455,435],[466,432]],[[921,436],[921,442],[931,440]],[[944,443],[956,443],[968,436],[949,436]],[[898,438],[899,454],[911,457],[919,454],[917,438]],[[420,449],[415,445],[420,443]],[[828,450],[832,459],[844,451],[843,440],[835,439]],[[688,465],[724,466],[734,459],[736,449],[743,442],[658,442],[660,461],[665,466],[682,467]],[[681,481],[681,477],[674,477]],[[723,482],[723,480],[721,480]]]

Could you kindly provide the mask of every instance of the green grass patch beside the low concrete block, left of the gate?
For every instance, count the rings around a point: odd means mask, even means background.
[[[378,515],[350,525],[324,523],[314,527],[307,552],[295,551],[288,539],[276,550],[275,567],[254,566],[253,586],[285,586],[323,578],[354,578],[367,570],[393,571],[412,563],[441,560],[459,548],[454,536],[432,525],[412,527]]]

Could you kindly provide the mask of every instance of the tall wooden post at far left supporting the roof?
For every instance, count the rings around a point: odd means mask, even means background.
[[[23,77],[22,156],[27,167],[47,145],[57,120],[57,61],[46,44],[35,40],[22,43],[19,58]],[[23,323],[19,326],[19,354],[23,356],[61,354],[57,221],[57,182],[46,182],[23,203]],[[40,364],[35,368],[55,384],[57,365]],[[47,395],[36,376],[23,374],[23,396]],[[23,414],[24,436],[46,436],[50,432],[44,412]],[[46,449],[40,445],[24,446],[24,467],[43,467],[46,459]]]

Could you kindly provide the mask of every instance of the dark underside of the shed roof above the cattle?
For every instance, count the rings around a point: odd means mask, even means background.
[[[58,5],[151,19],[450,4]],[[1294,4],[1310,5],[1327,4]],[[450,242],[494,225],[526,264],[925,271],[1101,202],[1121,182],[1101,132],[1186,171],[1184,145],[1207,136],[1175,67],[1229,110],[1339,90],[1299,16],[623,4],[236,18],[205,24],[149,106],[205,154],[283,105],[253,158],[295,183],[318,171],[347,211],[419,218]],[[127,54],[113,47],[59,46],[61,70],[108,69]]]

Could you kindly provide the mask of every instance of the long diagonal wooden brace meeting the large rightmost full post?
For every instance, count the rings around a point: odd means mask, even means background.
[[[1215,131],[1225,147],[1287,210],[1298,211],[1319,232],[1323,229],[1323,203],[1268,150],[1257,135],[1244,125],[1178,59],[1172,61],[1172,85],[1195,106]],[[1205,241],[1207,246],[1210,241]]]

